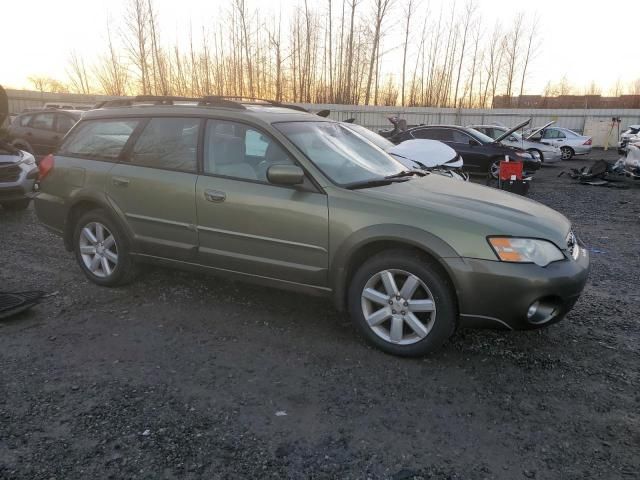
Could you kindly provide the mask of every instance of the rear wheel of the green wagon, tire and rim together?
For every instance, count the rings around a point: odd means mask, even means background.
[[[135,277],[137,268],[130,254],[128,238],[104,210],[91,210],[80,217],[73,232],[73,251],[78,265],[93,283],[115,287],[125,285]]]

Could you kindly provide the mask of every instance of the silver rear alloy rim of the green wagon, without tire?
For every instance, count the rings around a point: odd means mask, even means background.
[[[107,278],[118,266],[116,239],[100,222],[84,226],[80,231],[79,247],[85,267],[96,277]]]

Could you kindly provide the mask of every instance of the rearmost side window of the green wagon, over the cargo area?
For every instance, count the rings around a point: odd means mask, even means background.
[[[138,119],[86,120],[60,147],[60,155],[117,160],[138,126]]]

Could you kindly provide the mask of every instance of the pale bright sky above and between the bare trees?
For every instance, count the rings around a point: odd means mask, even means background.
[[[338,1],[334,0],[336,4]],[[448,1],[423,0],[423,4],[437,11]],[[404,3],[396,2],[400,6]],[[66,80],[69,53],[75,50],[89,62],[101,53],[106,18],[117,19],[126,3],[127,0],[0,0],[4,20],[0,84],[32,88],[28,81],[32,75]],[[248,3],[259,5],[263,11],[280,10],[285,24],[294,2]],[[227,8],[229,2],[155,0],[155,4],[163,35],[179,39],[190,22],[194,29],[206,25],[207,19],[219,15],[221,7]],[[517,11],[525,12],[529,19],[538,15],[541,48],[532,63],[526,93],[541,93],[548,81],[557,82],[565,75],[578,88],[595,81],[603,93],[618,79],[626,84],[640,78],[640,62],[633,57],[637,55],[640,18],[631,14],[628,0],[610,0],[606,8],[601,0],[477,0],[477,4],[487,30],[496,20],[508,22]],[[397,38],[400,44],[399,23],[387,25],[387,41],[393,43]]]

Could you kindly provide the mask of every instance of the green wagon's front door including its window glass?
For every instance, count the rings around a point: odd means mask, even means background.
[[[201,263],[327,285],[327,197],[310,182],[297,188],[268,182],[271,165],[294,163],[275,139],[241,123],[209,120],[203,163],[196,185]]]

